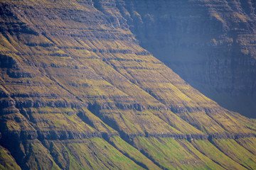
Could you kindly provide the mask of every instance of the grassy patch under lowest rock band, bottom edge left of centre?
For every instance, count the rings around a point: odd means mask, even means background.
[[[62,169],[143,169],[101,138],[52,141],[49,145]]]

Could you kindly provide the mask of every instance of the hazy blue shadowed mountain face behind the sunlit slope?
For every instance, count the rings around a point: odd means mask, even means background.
[[[142,47],[221,106],[256,118],[255,1],[127,0],[124,6]]]

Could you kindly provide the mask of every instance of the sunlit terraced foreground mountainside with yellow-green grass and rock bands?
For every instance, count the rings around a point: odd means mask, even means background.
[[[139,46],[132,4],[0,2],[0,169],[256,169],[255,120]]]

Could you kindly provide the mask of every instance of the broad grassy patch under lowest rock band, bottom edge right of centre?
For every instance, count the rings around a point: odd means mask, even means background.
[[[187,140],[136,137],[134,145],[166,169],[223,169]]]

